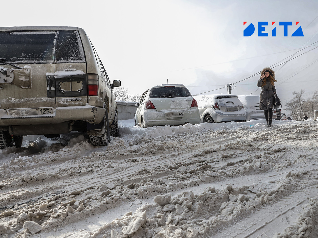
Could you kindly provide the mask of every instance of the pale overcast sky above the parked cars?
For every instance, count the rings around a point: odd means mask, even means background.
[[[273,68],[283,102],[293,91],[318,90],[318,1],[105,0],[20,1],[10,4],[1,26],[77,26],[94,44],[111,81],[131,94],[183,83],[192,95],[219,89]],[[3,15],[2,14],[2,15]],[[243,25],[243,22],[247,22]],[[268,36],[257,22],[268,22]],[[274,25],[272,26],[272,22]],[[292,22],[283,36],[279,22]],[[295,23],[299,22],[296,26]],[[253,23],[255,33],[244,37]],[[276,37],[271,32],[276,26]],[[303,37],[291,34],[301,26]],[[315,35],[316,34],[316,35]],[[313,50],[312,50],[313,49]],[[259,95],[259,75],[233,86],[232,94]],[[207,94],[227,93],[226,88]]]

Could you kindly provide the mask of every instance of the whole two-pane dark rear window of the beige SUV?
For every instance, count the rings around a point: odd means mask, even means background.
[[[85,62],[78,31],[0,32],[0,58],[10,63]]]

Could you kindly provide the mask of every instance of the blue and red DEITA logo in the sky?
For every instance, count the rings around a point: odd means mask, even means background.
[[[247,22],[243,22],[245,25]],[[272,22],[272,36],[276,36],[276,26],[274,26],[276,22]],[[296,25],[299,22],[296,22]],[[277,25],[277,23],[276,23]],[[288,26],[293,26],[293,22],[279,22],[280,26],[284,27],[284,36],[288,36]],[[296,26],[295,25],[295,26]],[[257,36],[268,36],[268,32],[265,31],[265,27],[268,26],[268,22],[257,22]],[[244,29],[244,36],[252,36],[255,32],[255,26],[253,23],[250,23],[245,29]],[[297,30],[294,31],[292,36],[304,36],[304,33],[302,32],[301,25],[297,28]]]

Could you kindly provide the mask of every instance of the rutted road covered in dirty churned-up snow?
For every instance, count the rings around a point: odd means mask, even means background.
[[[132,123],[1,151],[0,236],[318,237],[318,122]]]

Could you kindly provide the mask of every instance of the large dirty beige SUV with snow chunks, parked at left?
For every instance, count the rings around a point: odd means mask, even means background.
[[[0,28],[0,148],[71,131],[107,145],[118,136],[112,89],[120,85],[81,28]]]

